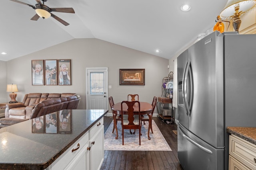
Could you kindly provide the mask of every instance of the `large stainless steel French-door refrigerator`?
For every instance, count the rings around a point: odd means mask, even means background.
[[[178,159],[184,170],[228,169],[226,127],[256,127],[256,35],[211,33],[178,64]]]

